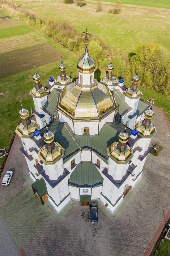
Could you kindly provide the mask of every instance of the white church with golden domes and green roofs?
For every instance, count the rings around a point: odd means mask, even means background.
[[[156,129],[150,104],[142,101],[139,76],[130,88],[113,76],[112,61],[101,81],[94,78],[95,60],[85,52],[77,63],[78,79],[50,76],[45,87],[33,75],[30,91],[34,119],[21,102],[21,123],[15,132],[22,141],[32,182],[43,181],[49,202],[60,212],[70,200],[88,205],[100,200],[114,211],[142,176]]]

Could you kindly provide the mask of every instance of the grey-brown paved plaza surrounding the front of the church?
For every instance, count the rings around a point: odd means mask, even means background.
[[[89,208],[77,201],[59,214],[48,200],[41,204],[18,137],[8,164],[13,178],[10,186],[0,187],[0,256],[144,255],[170,208],[170,130],[162,111],[153,110],[157,134],[151,145],[163,150],[147,156],[142,178],[114,213],[98,201],[98,224],[90,223]]]

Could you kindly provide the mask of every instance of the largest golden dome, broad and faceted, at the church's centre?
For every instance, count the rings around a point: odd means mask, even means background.
[[[70,83],[60,94],[57,109],[74,121],[99,121],[105,117],[106,112],[113,112],[115,106],[113,96],[106,85],[97,83],[91,88],[83,88]]]

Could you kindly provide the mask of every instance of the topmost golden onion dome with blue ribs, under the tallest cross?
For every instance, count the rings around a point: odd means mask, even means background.
[[[81,57],[77,63],[77,68],[82,74],[90,74],[94,72],[96,68],[95,61],[88,54],[87,46],[83,57]]]

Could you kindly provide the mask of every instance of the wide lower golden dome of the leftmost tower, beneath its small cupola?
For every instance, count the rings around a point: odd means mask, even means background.
[[[15,132],[19,135],[19,137],[30,137],[30,135],[32,136],[32,133],[37,129],[37,127],[39,126],[36,121],[33,120],[29,120],[30,123],[26,126],[24,126],[22,123],[20,123],[16,129]]]

